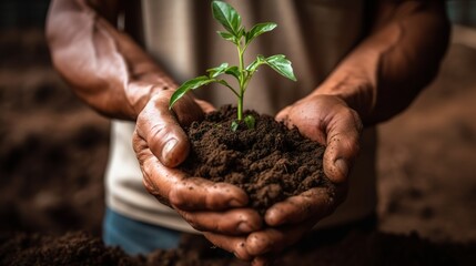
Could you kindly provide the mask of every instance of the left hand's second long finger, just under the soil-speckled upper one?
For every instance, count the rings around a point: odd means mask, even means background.
[[[242,235],[261,228],[262,218],[251,208],[226,212],[183,212],[180,215],[195,229],[225,235]]]

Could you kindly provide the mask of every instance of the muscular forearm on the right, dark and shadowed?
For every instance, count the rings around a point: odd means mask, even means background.
[[[381,1],[371,34],[315,94],[333,94],[364,124],[394,116],[436,75],[449,24],[442,1]]]

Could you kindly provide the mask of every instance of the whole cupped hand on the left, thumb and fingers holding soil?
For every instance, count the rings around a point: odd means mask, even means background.
[[[190,150],[180,125],[202,120],[213,106],[185,95],[171,111],[172,93],[172,90],[164,90],[151,98],[136,120],[133,147],[145,188],[198,231],[242,235],[259,229],[262,218],[245,207],[249,198],[243,190],[227,183],[185,177],[174,168],[186,158]]]

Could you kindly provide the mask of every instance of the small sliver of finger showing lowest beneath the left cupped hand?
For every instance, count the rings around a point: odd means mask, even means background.
[[[205,232],[203,235],[215,246],[233,253],[240,259],[251,260],[253,258],[246,252],[246,238],[244,236],[227,236],[210,232]]]

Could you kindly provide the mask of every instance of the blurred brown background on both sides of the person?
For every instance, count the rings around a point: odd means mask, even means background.
[[[101,231],[109,122],[51,66],[47,0],[0,2],[0,233]],[[476,241],[476,1],[446,1],[438,78],[379,126],[381,229]]]

